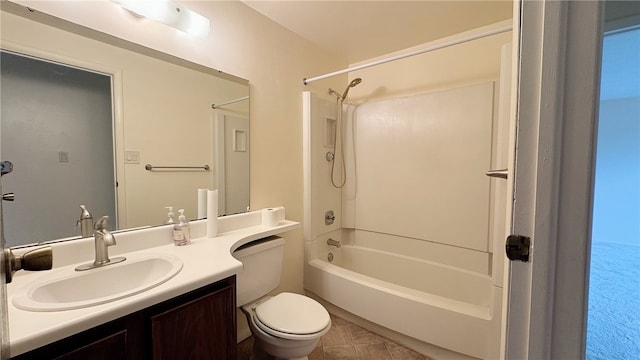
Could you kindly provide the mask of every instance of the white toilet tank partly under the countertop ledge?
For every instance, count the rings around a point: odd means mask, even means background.
[[[242,262],[236,275],[238,307],[267,295],[280,284],[284,239],[278,236],[255,240],[242,245],[233,257]]]

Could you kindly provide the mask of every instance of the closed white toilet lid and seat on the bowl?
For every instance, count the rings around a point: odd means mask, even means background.
[[[329,313],[320,303],[299,294],[280,293],[252,307],[252,310],[256,326],[283,339],[318,338],[331,325]]]

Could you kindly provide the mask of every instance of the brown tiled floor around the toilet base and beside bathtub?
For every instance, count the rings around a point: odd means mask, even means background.
[[[331,315],[331,324],[309,360],[429,360],[339,317]],[[252,337],[238,344],[238,360],[248,360],[252,347]]]

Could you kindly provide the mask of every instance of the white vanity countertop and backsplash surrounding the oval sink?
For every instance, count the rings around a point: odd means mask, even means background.
[[[283,208],[282,218],[284,219]],[[191,244],[187,246],[173,245],[172,227],[169,225],[116,233],[118,244],[109,248],[110,257],[119,254],[167,254],[180,258],[183,267],[173,278],[152,289],[101,305],[51,312],[18,309],[13,305],[13,294],[38,278],[47,276],[49,272],[16,272],[13,282],[7,284],[11,355],[39,348],[234,275],[242,271],[242,263],[231,255],[233,250],[253,240],[281,234],[300,226],[298,222],[281,220],[277,226],[268,227],[263,226],[260,221],[260,211],[221,217],[218,220],[220,233],[214,238],[203,237],[205,220],[192,222],[191,232],[199,237],[192,238]],[[52,271],[62,266],[76,266],[93,261],[93,238],[54,244],[53,247]],[[75,249],[71,249],[72,247]],[[73,253],[78,254],[78,247],[84,256],[74,258]],[[86,250],[90,250],[90,254],[86,254]]]

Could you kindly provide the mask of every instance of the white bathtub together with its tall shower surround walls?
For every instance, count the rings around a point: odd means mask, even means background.
[[[303,93],[306,291],[411,341],[499,357],[496,85],[357,106]]]

